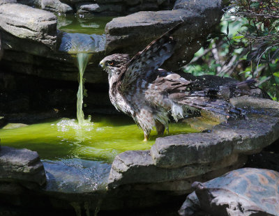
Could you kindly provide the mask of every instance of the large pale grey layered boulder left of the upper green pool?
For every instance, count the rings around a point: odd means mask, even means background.
[[[0,6],[1,29],[52,49],[56,48],[56,24],[56,16],[44,10],[14,3]]]

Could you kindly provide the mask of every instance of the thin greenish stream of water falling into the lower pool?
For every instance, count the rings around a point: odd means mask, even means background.
[[[77,121],[80,125],[84,125],[85,119],[84,119],[84,113],[82,111],[82,105],[83,105],[83,96],[84,96],[84,71],[86,69],[86,65],[89,62],[90,55],[87,53],[78,53],[77,54],[77,67],[79,68],[80,72],[80,85],[77,91]],[[91,119],[88,119],[87,121],[90,121]]]

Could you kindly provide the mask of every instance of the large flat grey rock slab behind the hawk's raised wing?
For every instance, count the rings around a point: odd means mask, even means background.
[[[212,4],[206,3],[204,6],[200,6],[200,2],[193,1],[193,8],[200,7],[200,10],[177,8],[176,10],[156,12],[141,11],[126,17],[114,18],[105,28],[106,52],[133,55],[183,20],[183,26],[173,35],[178,40],[175,55],[162,66],[167,70],[176,70],[192,59],[193,54],[202,47],[207,34],[214,29],[214,25],[220,22],[222,15],[220,2],[218,0],[213,1]],[[151,4],[155,6],[155,3]],[[154,9],[156,8],[154,7]],[[130,10],[137,9],[130,8]],[[209,13],[210,11],[215,13]]]

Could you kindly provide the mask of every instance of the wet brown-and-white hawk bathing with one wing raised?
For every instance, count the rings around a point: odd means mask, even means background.
[[[178,121],[201,109],[226,116],[241,114],[240,109],[228,102],[232,89],[233,94],[241,95],[255,82],[250,79],[234,86],[209,89],[174,72],[160,69],[174,53],[176,40],[171,35],[180,26],[181,23],[153,40],[132,59],[128,54],[112,54],[100,61],[100,66],[108,73],[112,104],[131,116],[142,128],[144,141],[154,128],[159,135],[165,129],[168,131],[170,116]]]

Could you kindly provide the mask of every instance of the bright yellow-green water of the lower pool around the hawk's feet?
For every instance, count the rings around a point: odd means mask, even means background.
[[[112,162],[128,150],[147,150],[158,137],[151,132],[149,141],[137,125],[125,116],[93,116],[94,123],[59,119],[22,128],[1,129],[1,145],[37,151],[42,159],[81,158]],[[170,124],[169,134],[197,132],[185,123]]]

